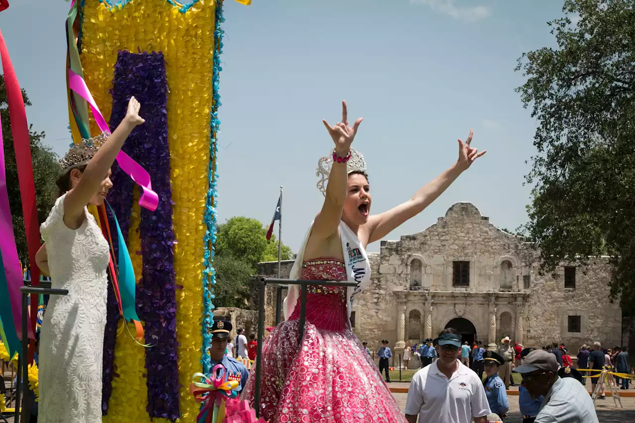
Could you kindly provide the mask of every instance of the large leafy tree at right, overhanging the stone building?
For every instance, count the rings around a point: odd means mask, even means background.
[[[517,91],[538,122],[525,229],[542,271],[608,253],[612,298],[635,316],[635,8],[565,0],[563,12],[548,24],[558,48],[518,61],[527,81]]]

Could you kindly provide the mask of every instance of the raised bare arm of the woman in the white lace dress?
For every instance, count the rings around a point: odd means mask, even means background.
[[[90,198],[98,192],[108,171],[117,158],[128,135],[135,126],[144,123],[139,116],[140,104],[135,97],[128,102],[126,117],[117,126],[117,129],[104,142],[104,145],[90,159],[86,169],[77,182],[77,186],[71,189],[64,198],[64,223],[71,229],[77,229],[84,220],[84,207]]]

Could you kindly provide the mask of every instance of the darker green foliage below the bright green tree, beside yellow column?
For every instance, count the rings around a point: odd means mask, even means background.
[[[251,266],[231,255],[215,255],[213,304],[217,307],[240,307],[249,305],[249,280],[253,274]]]

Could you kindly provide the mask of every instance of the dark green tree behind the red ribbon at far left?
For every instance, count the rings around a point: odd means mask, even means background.
[[[22,98],[25,106],[31,102],[27,93],[22,90]],[[13,232],[18,249],[18,257],[23,264],[29,262],[27,239],[24,231],[24,218],[22,215],[22,199],[20,199],[20,185],[18,185],[18,168],[15,163],[15,151],[13,149],[13,135],[11,135],[11,122],[9,116],[4,76],[0,75],[0,116],[2,117],[2,132],[4,145],[4,165],[6,168],[7,191],[11,217],[13,217]],[[39,223],[44,222],[49,211],[55,204],[55,193],[60,168],[57,155],[50,147],[43,144],[44,132],[36,132],[32,125],[29,127],[31,159],[33,162],[33,178],[36,187],[37,217]]]

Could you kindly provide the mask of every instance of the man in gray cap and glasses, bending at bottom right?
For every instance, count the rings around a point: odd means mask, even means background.
[[[523,377],[523,385],[531,395],[545,399],[535,423],[599,423],[591,396],[572,377],[558,377],[558,361],[551,352],[537,349],[514,369]]]

